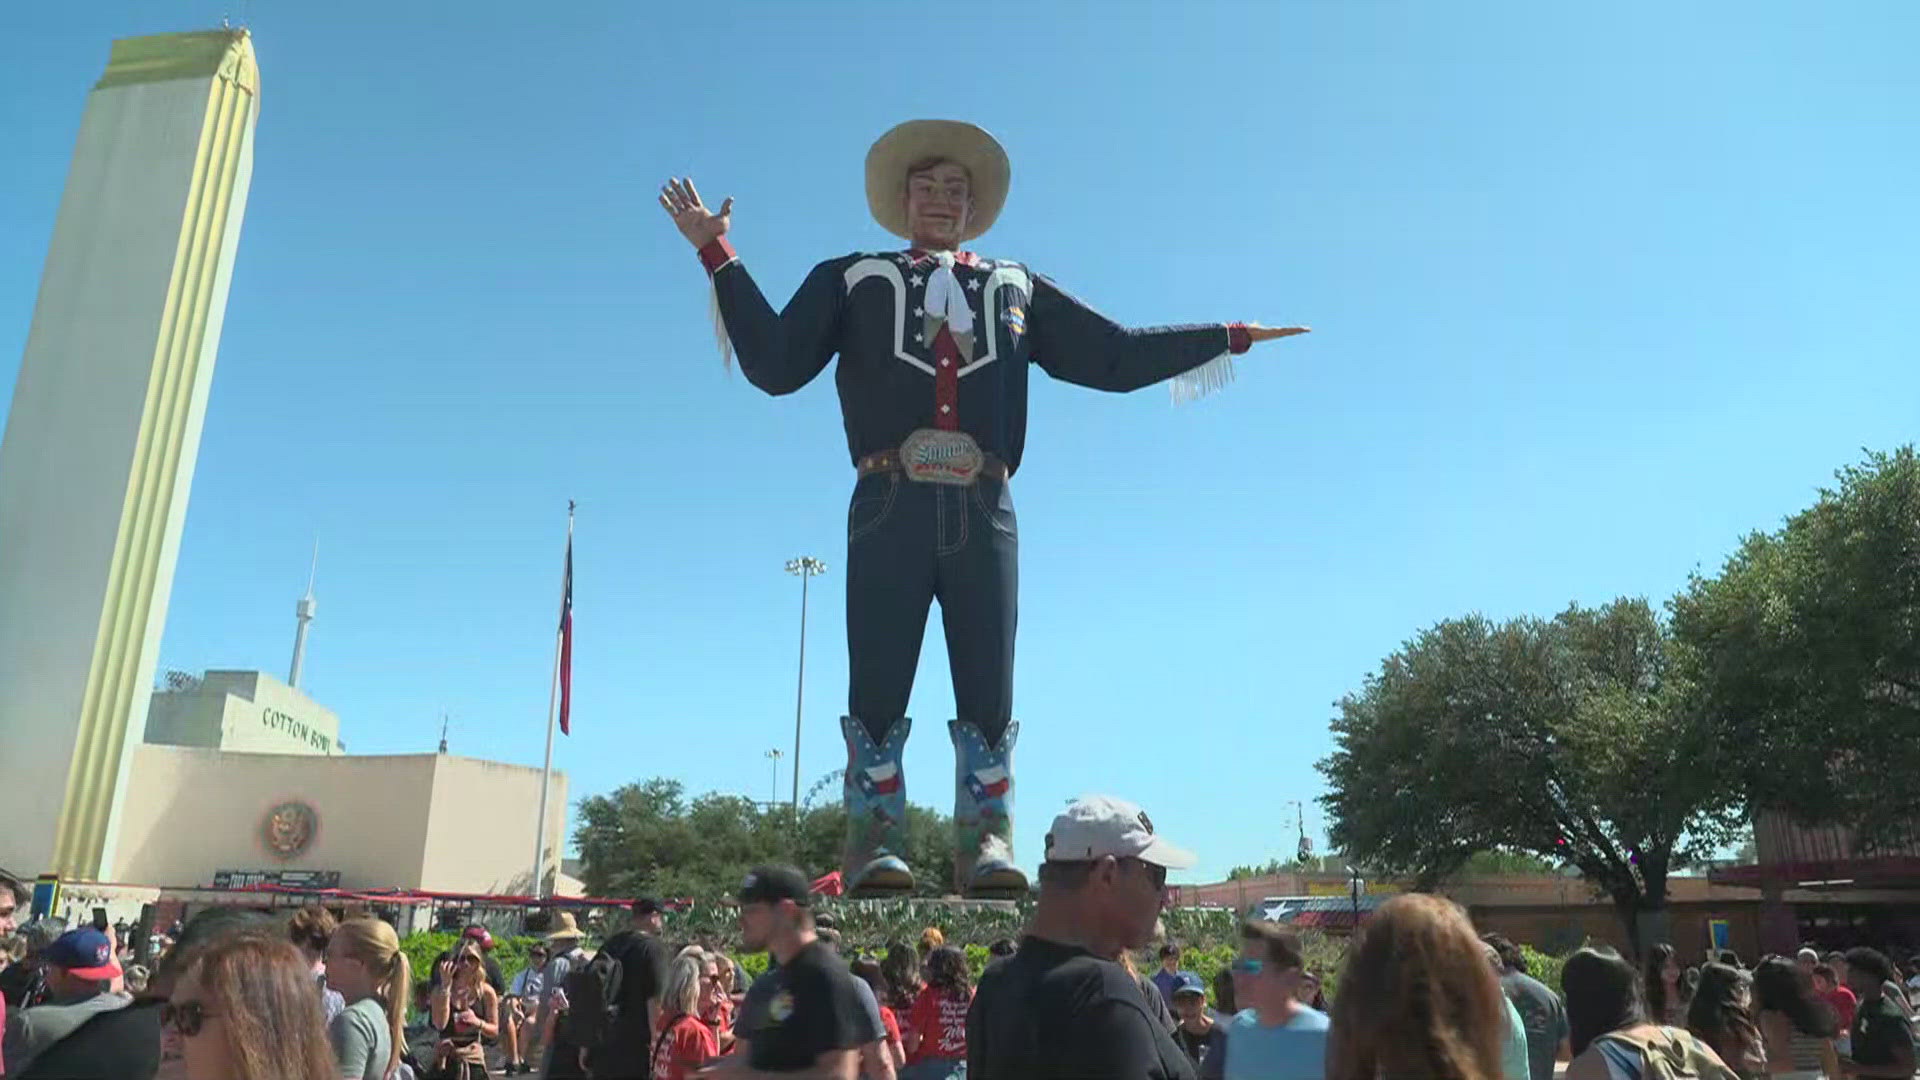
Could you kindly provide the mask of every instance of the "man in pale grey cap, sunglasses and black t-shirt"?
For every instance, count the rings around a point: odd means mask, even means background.
[[[1133,803],[1091,796],[1056,817],[1033,926],[973,995],[968,1080],[1192,1080],[1140,986],[1106,957],[1152,940],[1167,869],[1194,863]]]

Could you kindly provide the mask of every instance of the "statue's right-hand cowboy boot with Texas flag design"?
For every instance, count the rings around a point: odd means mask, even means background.
[[[954,740],[954,888],[973,897],[1027,896],[1027,874],[1014,863],[1014,740],[987,744],[979,726],[947,721]]]

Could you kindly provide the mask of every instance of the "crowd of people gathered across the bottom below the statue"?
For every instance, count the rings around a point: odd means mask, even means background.
[[[4,1080],[1910,1080],[1914,1007],[1885,955],[1732,953],[1682,969],[1611,949],[1567,959],[1561,992],[1523,951],[1428,894],[1361,926],[1329,995],[1286,926],[1240,926],[1208,986],[1177,944],[1142,974],[1169,869],[1192,855],[1139,807],[1089,798],[1052,824],[1025,934],[843,957],[793,867],[732,897],[764,974],[699,940],[670,947],[660,903],[597,949],[570,913],[503,976],[468,926],[426,972],[371,917],[205,909],[163,936],[136,984],[121,928],[0,947]],[[0,880],[0,938],[25,890]],[[23,928],[31,938],[33,926]],[[1912,965],[1920,969],[1920,963]],[[31,978],[23,974],[31,972]],[[417,982],[417,974],[420,976]],[[1331,972],[1329,972],[1331,974]],[[1916,976],[1920,984],[1920,976]],[[1212,1003],[1210,1003],[1212,990]],[[409,1024],[409,1017],[420,1020]]]

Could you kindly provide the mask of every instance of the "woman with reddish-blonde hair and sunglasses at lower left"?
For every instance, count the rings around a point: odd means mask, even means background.
[[[196,951],[159,1017],[188,1080],[340,1080],[292,942],[240,934]]]

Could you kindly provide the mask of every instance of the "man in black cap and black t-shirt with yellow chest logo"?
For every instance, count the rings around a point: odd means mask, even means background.
[[[737,899],[745,947],[766,949],[776,967],[747,990],[733,1022],[741,1049],[712,1074],[854,1080],[868,1040],[866,1007],[847,963],[814,934],[806,876],[793,867],[760,867],[741,882]]]

